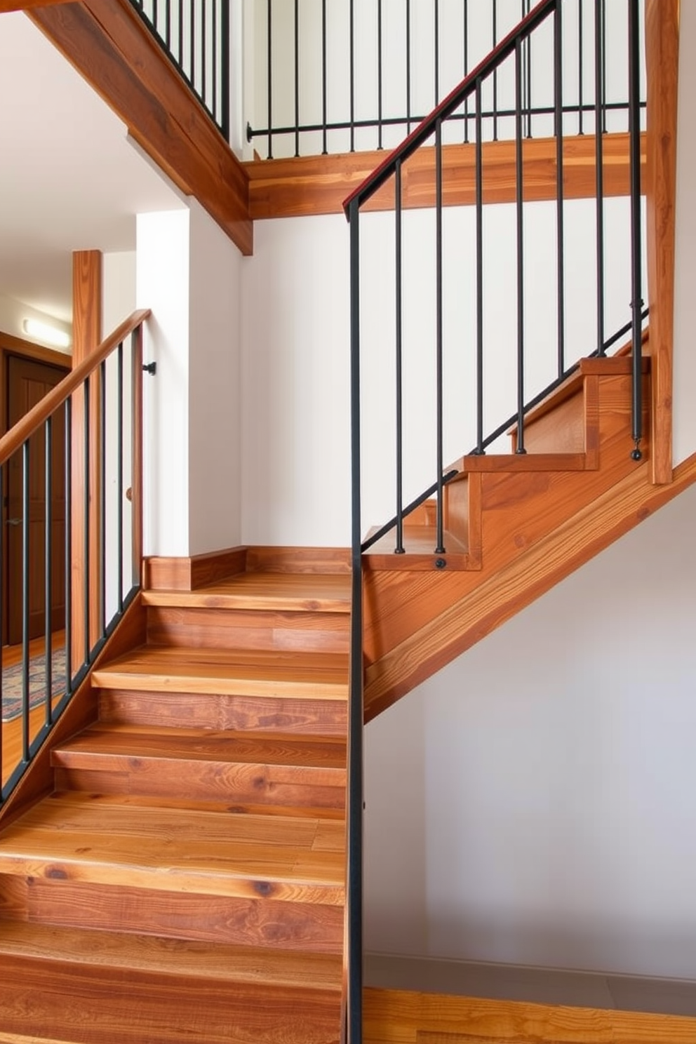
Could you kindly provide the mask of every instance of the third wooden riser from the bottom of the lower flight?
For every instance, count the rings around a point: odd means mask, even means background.
[[[94,768],[72,767],[62,752],[57,790],[137,794],[184,801],[336,809],[345,805],[345,773],[293,765],[230,765],[208,761],[95,756]],[[75,759],[76,760],[76,759]]]

